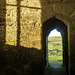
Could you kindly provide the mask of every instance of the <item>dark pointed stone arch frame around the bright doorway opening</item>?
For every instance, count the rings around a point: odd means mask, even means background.
[[[63,44],[63,67],[66,68],[66,73],[68,74],[68,28],[67,26],[57,18],[53,17],[46,20],[43,23],[43,38],[42,38],[42,48],[44,50],[45,68],[48,67],[48,35],[53,29],[61,32],[62,44]]]

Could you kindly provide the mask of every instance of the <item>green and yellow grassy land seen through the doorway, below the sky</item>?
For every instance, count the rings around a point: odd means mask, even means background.
[[[63,60],[62,36],[48,37],[48,60]]]

